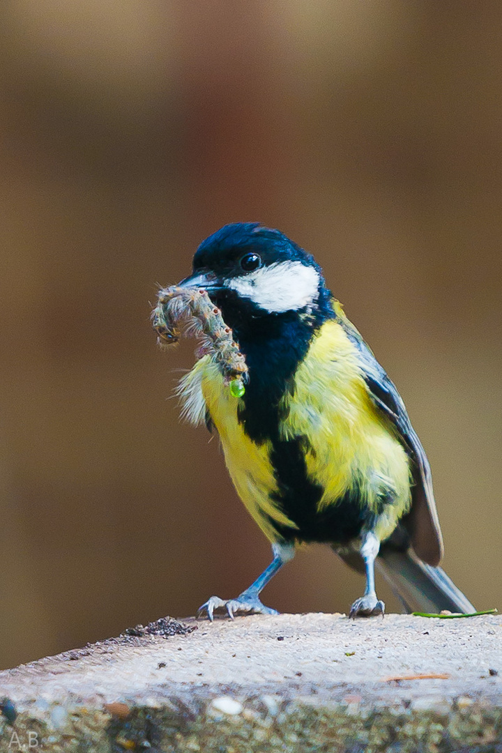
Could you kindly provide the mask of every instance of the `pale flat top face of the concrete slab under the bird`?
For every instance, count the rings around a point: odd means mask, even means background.
[[[196,630],[168,639],[98,643],[0,672],[1,692],[17,703],[68,694],[111,702],[187,686],[281,692],[293,684],[297,691],[315,685],[318,693],[330,695],[357,686],[378,697],[391,684],[388,678],[431,673],[447,674],[449,680],[422,679],[420,694],[449,685],[487,692],[502,687],[502,617],[497,615],[348,620],[339,614],[282,614],[183,624]],[[490,669],[500,676],[490,675]]]

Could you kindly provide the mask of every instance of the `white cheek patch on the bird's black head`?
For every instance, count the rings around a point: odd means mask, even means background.
[[[301,261],[278,261],[227,281],[227,287],[271,313],[297,311],[318,295],[319,273]]]

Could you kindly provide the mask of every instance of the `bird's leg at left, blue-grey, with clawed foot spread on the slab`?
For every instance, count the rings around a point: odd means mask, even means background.
[[[205,604],[199,607],[197,616],[200,617],[205,612],[212,622],[214,611],[219,609],[225,609],[232,620],[234,614],[239,612],[245,614],[278,614],[277,610],[266,607],[260,602],[260,591],[286,562],[293,559],[294,544],[272,544],[272,553],[273,559],[269,566],[236,599],[220,599],[219,596],[211,596],[211,599],[208,599]]]

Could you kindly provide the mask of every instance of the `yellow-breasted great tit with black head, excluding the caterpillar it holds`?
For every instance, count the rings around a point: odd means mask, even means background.
[[[403,400],[314,257],[280,230],[231,223],[199,245],[178,285],[208,293],[248,365],[236,396],[203,355],[179,383],[182,414],[219,435],[236,492],[272,546],[251,586],[211,596],[199,617],[278,614],[260,593],[314,542],[365,575],[349,617],[385,613],[376,569],[404,611],[475,611],[439,566],[431,468]]]

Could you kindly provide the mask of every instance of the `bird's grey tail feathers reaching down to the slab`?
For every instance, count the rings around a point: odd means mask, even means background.
[[[376,566],[408,612],[476,611],[440,567],[426,565],[411,550],[382,547]]]

